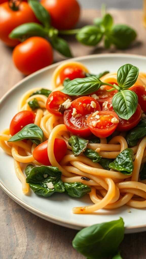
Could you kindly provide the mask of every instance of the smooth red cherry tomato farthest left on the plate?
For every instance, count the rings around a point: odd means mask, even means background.
[[[35,114],[32,111],[18,112],[11,120],[10,134],[13,136],[22,128],[30,123],[34,123]]]

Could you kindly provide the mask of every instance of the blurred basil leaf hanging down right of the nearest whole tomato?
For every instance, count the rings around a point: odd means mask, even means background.
[[[72,57],[69,45],[66,40],[59,38],[59,37],[53,37],[51,39],[51,44],[52,44],[53,48],[55,48],[63,56]]]

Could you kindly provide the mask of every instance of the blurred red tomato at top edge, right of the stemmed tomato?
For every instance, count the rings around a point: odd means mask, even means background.
[[[76,0],[41,0],[41,4],[51,15],[52,26],[58,30],[73,28],[80,14],[80,7]]]

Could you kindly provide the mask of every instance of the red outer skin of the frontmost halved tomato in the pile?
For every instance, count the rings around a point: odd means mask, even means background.
[[[118,119],[117,114],[116,114],[115,112],[113,112],[113,111],[99,111],[98,114],[99,114],[99,115],[104,115],[104,114],[109,115],[109,114],[112,114],[113,117],[116,117],[116,118]],[[107,137],[110,136],[110,135],[116,130],[116,128],[117,128],[118,123],[111,125],[111,126],[110,126],[109,128],[107,128],[107,129],[97,129],[97,128],[95,128],[95,127],[93,127],[93,126],[90,125],[90,122],[91,122],[90,118],[91,118],[91,117],[92,117],[92,114],[88,117],[88,119],[87,119],[87,124],[88,124],[88,126],[89,126],[89,128],[90,128],[90,131],[91,131],[95,136],[97,136],[98,138],[107,138]]]

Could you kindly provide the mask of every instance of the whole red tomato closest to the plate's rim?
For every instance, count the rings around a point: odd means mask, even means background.
[[[15,66],[24,75],[29,75],[53,62],[50,43],[41,37],[31,37],[17,45],[13,51]]]

